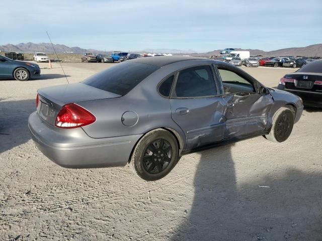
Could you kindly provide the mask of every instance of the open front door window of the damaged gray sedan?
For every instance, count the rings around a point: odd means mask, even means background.
[[[254,93],[254,85],[251,81],[241,77],[240,75],[226,69],[218,69],[220,74],[224,94],[232,94],[238,92]]]

